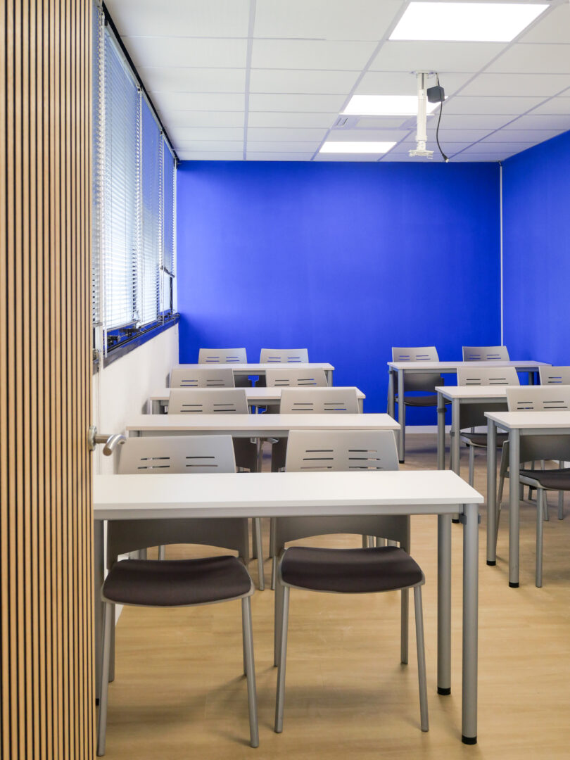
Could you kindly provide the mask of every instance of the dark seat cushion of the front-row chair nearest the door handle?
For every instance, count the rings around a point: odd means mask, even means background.
[[[123,559],[103,584],[103,597],[122,604],[184,606],[248,594],[252,579],[236,557]]]

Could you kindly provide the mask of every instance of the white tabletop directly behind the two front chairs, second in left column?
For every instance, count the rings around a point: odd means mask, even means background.
[[[139,414],[127,431],[217,432],[289,430],[398,430],[388,414]]]

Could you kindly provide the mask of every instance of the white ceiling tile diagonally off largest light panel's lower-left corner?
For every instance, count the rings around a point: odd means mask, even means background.
[[[326,40],[254,40],[252,68],[318,68],[361,71],[376,44]]]

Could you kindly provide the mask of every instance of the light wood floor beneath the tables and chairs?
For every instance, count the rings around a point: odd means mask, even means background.
[[[406,469],[435,468],[435,435],[408,435]],[[467,476],[467,461],[464,461]],[[484,454],[475,486],[486,492]],[[508,487],[505,497],[508,496]],[[526,496],[526,492],[525,492]],[[436,694],[436,524],[412,518],[426,574],[429,733],[420,731],[413,606],[410,664],[399,662],[397,594],[292,591],[283,733],[273,731],[273,592],[253,599],[260,746],[249,747],[239,602],[182,610],[128,607],[109,686],[108,760],[116,758],[570,758],[570,508],[549,497],[543,588],[534,586],[534,502],[521,505],[521,587],[508,587],[508,514],[487,567],[480,525],[479,743],[461,744],[461,527],[453,526],[452,694]],[[336,546],[358,545],[338,537]],[[268,536],[264,536],[268,546]],[[328,540],[331,545],[331,539]],[[199,550],[198,550],[199,551]],[[167,556],[197,556],[170,547]],[[265,564],[266,574],[270,563]],[[257,579],[255,562],[250,571]]]

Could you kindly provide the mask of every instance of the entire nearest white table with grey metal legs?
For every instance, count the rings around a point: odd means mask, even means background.
[[[103,582],[105,520],[214,516],[268,518],[294,515],[438,515],[438,692],[449,694],[451,514],[459,510],[464,523],[461,733],[465,743],[476,743],[477,505],[482,502],[483,497],[455,473],[437,470],[220,473],[156,477],[97,475],[94,478],[93,492],[96,652],[100,651],[100,587]]]

